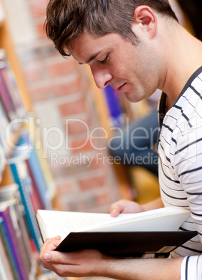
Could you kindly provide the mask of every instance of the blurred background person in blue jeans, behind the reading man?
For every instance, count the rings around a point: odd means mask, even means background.
[[[178,1],[169,0],[169,3],[180,24],[187,26]],[[124,165],[142,166],[155,176],[158,176],[156,143],[159,129],[157,107],[160,96],[161,91],[157,89],[150,98],[147,98],[150,113],[143,116],[143,118],[131,120],[127,125],[124,124],[121,127],[122,136],[117,131],[108,145],[110,155],[120,158]],[[131,139],[131,135],[134,134],[136,137]]]

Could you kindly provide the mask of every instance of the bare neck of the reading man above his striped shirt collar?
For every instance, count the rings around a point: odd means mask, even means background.
[[[176,26],[168,38],[162,90],[168,96],[169,108],[178,98],[189,77],[202,65],[202,42],[180,25]]]

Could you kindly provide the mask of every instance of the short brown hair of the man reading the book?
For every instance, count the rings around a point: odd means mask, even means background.
[[[50,0],[45,31],[63,56],[69,55],[65,48],[83,31],[94,36],[117,33],[136,45],[139,40],[131,24],[134,10],[141,5],[177,20],[168,0]]]

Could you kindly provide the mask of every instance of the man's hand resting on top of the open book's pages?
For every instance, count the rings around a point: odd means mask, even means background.
[[[139,213],[143,211],[145,210],[140,204],[126,199],[121,199],[110,206],[110,215],[112,217],[116,217],[120,213]]]

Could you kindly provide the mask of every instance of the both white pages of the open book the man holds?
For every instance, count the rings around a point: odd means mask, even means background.
[[[100,213],[38,210],[38,216],[41,216],[38,223],[43,228],[44,239],[60,235],[63,240],[75,231],[178,231],[190,212],[184,208],[168,207],[110,217],[109,214]]]

